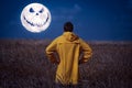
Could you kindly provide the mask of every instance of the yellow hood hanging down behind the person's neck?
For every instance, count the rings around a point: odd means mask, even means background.
[[[64,32],[64,37],[69,41],[69,42],[74,42],[78,40],[78,36],[75,35],[73,32]]]

